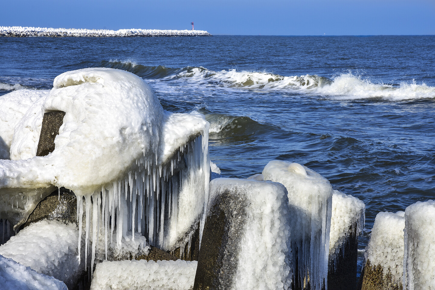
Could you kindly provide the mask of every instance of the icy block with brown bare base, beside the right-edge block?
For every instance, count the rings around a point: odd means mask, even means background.
[[[402,289],[405,213],[380,212],[365,248],[361,289]]]

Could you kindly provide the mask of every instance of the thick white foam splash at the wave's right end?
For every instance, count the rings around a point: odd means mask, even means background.
[[[398,86],[377,84],[352,73],[335,77],[332,82],[318,87],[315,92],[325,97],[342,100],[382,98],[397,101],[435,98],[435,87],[425,83],[417,84],[413,81]]]

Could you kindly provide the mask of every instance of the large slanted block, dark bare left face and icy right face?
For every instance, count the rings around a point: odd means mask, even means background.
[[[194,289],[290,289],[287,204],[279,183],[212,180]]]

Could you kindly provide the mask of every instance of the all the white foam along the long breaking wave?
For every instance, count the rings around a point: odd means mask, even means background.
[[[207,70],[204,67],[186,67],[166,77],[191,83],[236,87],[245,89],[280,90],[305,93],[311,96],[332,97],[339,100],[382,98],[393,101],[435,98],[435,87],[425,83],[374,83],[353,73],[343,73],[328,79],[318,75],[281,76],[268,72]]]

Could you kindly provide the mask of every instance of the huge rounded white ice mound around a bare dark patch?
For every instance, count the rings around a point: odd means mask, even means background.
[[[11,159],[17,162],[0,163],[0,187],[53,184],[80,195],[93,193],[119,179],[139,157],[157,153],[164,111],[147,83],[133,73],[109,68],[62,73],[54,79],[42,110],[35,111],[40,114],[35,122],[52,111],[66,113],[55,150],[20,162],[21,155],[36,155],[40,132],[32,126],[16,130],[13,143],[18,145],[12,146]],[[38,173],[26,177],[32,168]]]

